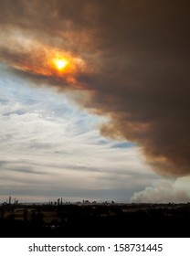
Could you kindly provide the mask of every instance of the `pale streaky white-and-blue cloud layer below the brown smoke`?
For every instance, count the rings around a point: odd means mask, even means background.
[[[0,201],[129,201],[156,179],[139,149],[100,136],[102,118],[0,71]]]

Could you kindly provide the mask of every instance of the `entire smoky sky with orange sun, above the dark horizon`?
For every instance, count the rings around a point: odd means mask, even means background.
[[[0,202],[190,200],[188,7],[0,2]]]

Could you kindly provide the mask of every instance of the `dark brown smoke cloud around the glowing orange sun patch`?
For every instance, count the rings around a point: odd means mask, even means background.
[[[0,58],[15,68],[37,58],[24,39],[24,53],[22,43],[16,50],[17,35],[78,55],[90,69],[76,77],[80,89],[90,91],[79,103],[110,118],[101,133],[140,144],[160,174],[188,175],[188,10],[185,0],[2,0]],[[57,82],[62,90],[61,81],[47,78]]]

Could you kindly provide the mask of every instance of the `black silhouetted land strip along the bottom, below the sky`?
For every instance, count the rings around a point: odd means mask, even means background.
[[[1,237],[190,237],[187,204],[0,206]]]

